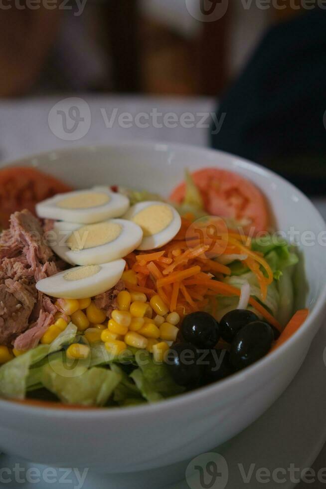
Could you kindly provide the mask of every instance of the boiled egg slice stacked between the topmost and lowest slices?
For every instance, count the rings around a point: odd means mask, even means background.
[[[68,263],[96,265],[117,260],[134,251],[142,242],[143,231],[124,219],[110,219],[82,226],[57,222],[47,244]]]

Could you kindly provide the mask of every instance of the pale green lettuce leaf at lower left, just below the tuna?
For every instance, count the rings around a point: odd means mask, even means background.
[[[39,383],[39,373],[31,372],[32,365],[58,351],[64,344],[72,343],[77,328],[70,323],[50,345],[38,345],[22,355],[13,358],[0,367],[0,396],[11,399],[24,399],[27,387]]]

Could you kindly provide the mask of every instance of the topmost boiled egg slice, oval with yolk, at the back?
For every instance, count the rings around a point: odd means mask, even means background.
[[[40,218],[79,224],[93,224],[122,216],[129,208],[129,199],[108,188],[77,190],[58,194],[36,205]]]

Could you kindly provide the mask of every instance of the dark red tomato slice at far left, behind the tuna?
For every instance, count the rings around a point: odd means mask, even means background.
[[[7,228],[10,215],[28,209],[35,214],[35,204],[72,188],[60,180],[29,167],[0,170],[0,227]]]

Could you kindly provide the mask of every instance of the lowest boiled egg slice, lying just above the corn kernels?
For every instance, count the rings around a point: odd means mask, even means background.
[[[85,299],[102,294],[122,277],[126,262],[123,259],[101,265],[75,266],[36,283],[37,290],[51,297]]]

